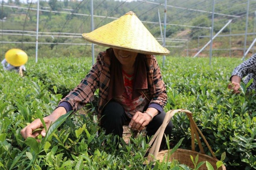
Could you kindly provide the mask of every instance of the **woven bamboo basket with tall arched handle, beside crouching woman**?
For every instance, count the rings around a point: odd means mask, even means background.
[[[164,131],[165,131],[165,128],[166,128],[168,122],[173,117],[173,115],[178,112],[186,113],[187,117],[189,117],[190,128],[191,128],[191,150],[177,149],[172,155],[169,156],[169,159],[167,160],[167,155],[170,150],[163,150],[163,151],[159,152],[159,148],[160,148],[161,140],[163,138],[163,134],[164,134]],[[210,150],[212,157],[209,155],[206,155],[204,153],[204,149],[202,147],[202,143],[200,141],[200,137],[199,137],[198,133],[200,133],[201,138],[204,140],[204,143],[207,145],[208,149]],[[195,151],[195,137],[197,139],[197,143],[198,143],[200,152]],[[154,144],[152,145],[152,143],[154,143]],[[216,169],[217,168],[216,163],[217,163],[217,161],[219,161],[216,158],[216,156],[214,155],[213,151],[211,150],[211,147],[208,144],[208,142],[206,141],[204,135],[199,130],[199,128],[197,127],[197,124],[193,120],[192,113],[185,109],[170,110],[169,112],[167,112],[165,115],[165,119],[163,120],[163,124],[160,126],[158,131],[155,133],[155,135],[149,142],[149,145],[152,147],[150,148],[150,152],[147,157],[147,162],[156,161],[156,160],[159,160],[160,162],[163,162],[163,161],[171,162],[171,161],[173,161],[173,159],[175,159],[180,164],[184,164],[186,166],[189,166],[190,168],[195,168],[193,162],[191,161],[190,155],[193,156],[194,160],[195,160],[195,157],[198,155],[197,164],[202,161],[208,161],[209,163],[211,163],[213,168]],[[152,155],[154,155],[154,156],[152,156]],[[163,159],[165,159],[165,160],[163,160]],[[204,163],[202,166],[200,166],[200,168],[198,170],[207,170],[206,164]],[[222,165],[218,170],[226,170],[226,167],[224,165]]]

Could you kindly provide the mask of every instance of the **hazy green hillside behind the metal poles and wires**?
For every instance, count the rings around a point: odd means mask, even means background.
[[[114,20],[106,16],[119,18],[128,11],[134,11],[141,21],[153,22],[143,22],[143,24],[145,24],[154,37],[161,38],[158,10],[160,11],[161,22],[163,23],[163,2],[164,1],[160,0],[147,1],[147,3],[140,0],[133,2],[94,0],[94,28],[96,29]],[[167,5],[169,6],[167,6],[166,37],[185,40],[182,42],[177,40],[170,42],[167,40],[167,48],[171,51],[171,55],[195,55],[195,53],[209,41],[207,37],[198,38],[198,36],[210,35],[210,29],[206,28],[211,27],[210,12],[212,11],[212,1],[169,0],[167,1]],[[254,32],[255,7],[256,2],[250,1],[248,33]],[[1,22],[1,29],[36,31],[36,9],[37,2],[34,1],[27,1],[26,4],[21,3],[19,0],[9,0],[7,3],[4,2],[0,8],[0,18],[4,19]],[[39,43],[55,44],[39,44],[39,57],[61,57],[70,55],[71,53],[76,57],[91,56],[90,43],[80,38],[82,33],[91,31],[91,16],[89,16],[91,13],[91,2],[89,0],[64,0],[63,2],[57,0],[49,0],[48,2],[40,1],[40,9],[43,11],[39,11],[39,32],[49,33],[39,33],[38,41]],[[222,0],[215,2],[214,34],[217,33],[229,19],[233,19],[231,32],[228,26],[221,33],[222,35],[229,33],[245,33],[246,10],[247,0]],[[224,15],[234,15],[237,17]],[[29,56],[35,57],[35,44],[25,44],[25,42],[35,43],[35,32],[24,32],[23,35],[22,32],[19,32],[20,35],[6,35],[4,33],[17,34],[17,32],[2,31],[1,40],[3,42],[19,41],[22,43],[1,43],[0,53],[4,55],[8,49],[21,48],[26,51]],[[73,34],[67,35],[63,33]],[[54,37],[51,35],[54,35]],[[248,35],[247,48],[253,39],[254,35]],[[159,42],[162,43],[161,39],[159,40]],[[186,42],[187,40],[188,42]],[[231,51],[231,55],[241,57],[241,55],[243,55],[244,40],[244,36],[233,36],[231,39],[229,37],[219,37],[214,40],[213,49],[229,49],[231,47],[234,49]],[[72,43],[72,45],[61,43]],[[74,45],[75,43],[84,43],[85,45]],[[174,46],[178,48],[174,48]],[[189,49],[188,52],[187,49]],[[209,47],[206,49],[209,49]],[[99,51],[102,51],[102,48],[95,46],[95,53],[97,54]],[[252,50],[249,55],[251,53]],[[213,56],[229,56],[229,54],[229,50],[213,51]],[[202,52],[201,56],[207,57],[208,55],[209,52],[205,50]]]

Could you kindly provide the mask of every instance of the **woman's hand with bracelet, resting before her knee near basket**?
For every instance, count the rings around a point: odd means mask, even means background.
[[[136,112],[129,123],[129,128],[133,130],[142,130],[151,121],[151,117],[142,112]]]

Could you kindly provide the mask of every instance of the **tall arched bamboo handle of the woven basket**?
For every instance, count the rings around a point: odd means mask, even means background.
[[[177,110],[170,110],[166,113],[165,115],[165,118],[163,120],[163,123],[162,125],[160,126],[160,128],[156,131],[155,135],[153,136],[153,138],[150,140],[149,142],[149,145],[151,146],[152,143],[154,143],[152,145],[152,147],[150,148],[150,152],[148,154],[148,162],[152,160],[152,156],[151,155],[154,155],[154,158],[156,159],[157,158],[157,155],[158,155],[158,152],[159,152],[159,149],[160,149],[160,144],[161,144],[161,141],[163,139],[163,134],[164,134],[164,131],[165,131],[165,128],[167,126],[167,124],[169,123],[169,121],[171,120],[171,118],[173,117],[173,115],[175,113],[179,113],[179,112],[182,112],[182,113],[186,113],[187,117],[189,117],[189,122],[190,122],[190,129],[191,129],[191,150],[192,151],[195,151],[195,136],[197,138],[197,142],[198,142],[198,146],[199,146],[199,149],[200,149],[200,153],[202,154],[205,154],[204,153],[204,149],[202,147],[202,143],[200,141],[200,137],[199,137],[199,134],[198,132],[200,133],[202,139],[204,140],[204,142],[206,143],[208,149],[210,150],[211,152],[211,155],[216,158],[216,156],[214,155],[213,151],[211,150],[211,147],[210,145],[208,144],[208,142],[206,141],[204,135],[202,134],[202,132],[199,130],[199,128],[197,127],[197,124],[195,123],[195,121],[193,120],[192,118],[192,113],[189,111],[189,110],[185,110],[185,109],[177,109]],[[156,141],[156,142],[154,142]]]

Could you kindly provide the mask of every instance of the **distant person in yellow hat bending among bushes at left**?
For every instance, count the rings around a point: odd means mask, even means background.
[[[21,49],[10,49],[6,52],[1,64],[4,70],[15,70],[23,77],[23,71],[26,71],[24,64],[28,61],[28,55]]]

